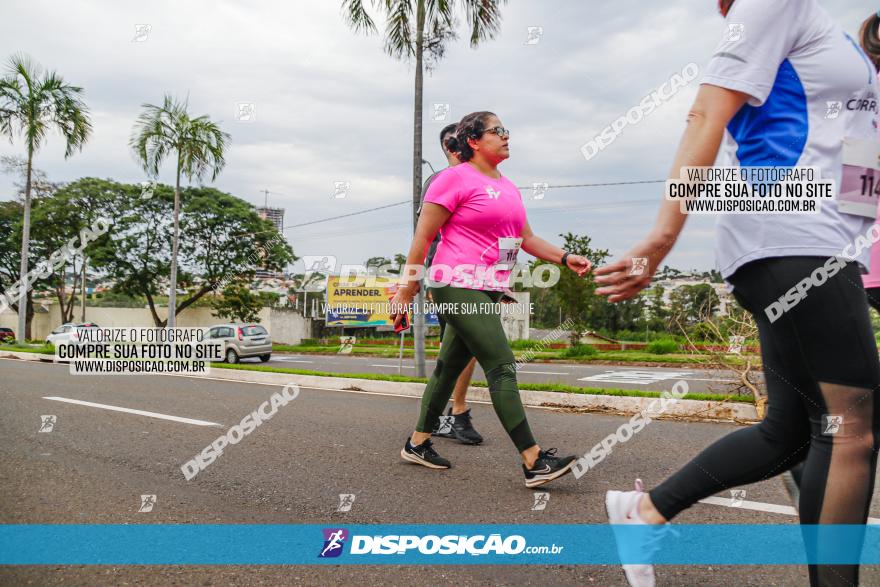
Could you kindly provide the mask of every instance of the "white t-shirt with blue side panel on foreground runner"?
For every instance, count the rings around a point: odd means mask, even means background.
[[[728,125],[716,164],[818,167],[839,190],[843,139],[877,136],[868,57],[816,0],[737,0],[725,29],[701,83],[751,99]],[[828,200],[812,215],[721,215],[718,270],[727,278],[756,259],[840,255],[871,222]],[[868,255],[857,258],[863,269]]]

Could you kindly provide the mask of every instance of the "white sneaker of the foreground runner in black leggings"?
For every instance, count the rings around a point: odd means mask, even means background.
[[[643,487],[642,480],[636,479],[635,491],[607,491],[605,493],[605,511],[608,513],[610,524],[620,526],[648,525],[639,517],[639,502],[645,495]],[[624,560],[632,557],[645,558],[643,555],[650,557],[659,549],[657,542],[668,529],[668,524],[657,525],[658,533],[651,533],[650,536],[645,534],[644,542],[641,544],[632,543],[634,536],[641,537],[641,534],[627,534],[626,537],[618,537],[615,532],[614,539],[617,541],[617,551],[620,557]],[[654,565],[652,564],[624,564],[623,572],[631,587],[654,587]]]

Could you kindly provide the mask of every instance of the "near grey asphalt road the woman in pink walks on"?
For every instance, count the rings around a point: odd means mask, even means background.
[[[604,523],[609,488],[642,477],[650,487],[736,427],[655,421],[581,479],[549,485],[532,511],[518,457],[488,405],[473,406],[486,437],[469,447],[438,439],[454,463],[431,471],[403,462],[414,398],[303,388],[270,421],[186,481],[180,466],[279,390],[278,386],[171,376],[71,376],[66,365],[0,360],[2,523]],[[185,421],[45,399],[109,404]],[[42,415],[56,416],[40,433]],[[529,408],[544,447],[582,454],[624,418]],[[745,488],[746,499],[788,505],[778,479]],[[356,496],[336,511],[339,494]],[[138,513],[154,494],[150,513]],[[729,497],[729,495],[720,495]],[[880,516],[875,497],[871,515]],[[787,514],[697,504],[680,523],[795,523]],[[731,546],[735,548],[735,545]],[[660,585],[801,585],[799,567],[666,566]],[[880,584],[877,568],[864,584]],[[0,568],[3,585],[625,585],[608,566],[187,566]]]

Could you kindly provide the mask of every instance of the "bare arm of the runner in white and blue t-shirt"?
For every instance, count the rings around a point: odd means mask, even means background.
[[[700,86],[688,113],[688,125],[675,154],[670,179],[678,179],[682,167],[714,165],[727,123],[749,98],[748,94],[735,90],[708,84]],[[595,270],[596,283],[600,286],[596,293],[608,296],[609,302],[620,302],[635,297],[651,285],[651,277],[672,249],[686,219],[678,202],[664,198],[651,232],[623,258]],[[638,267],[642,270],[635,270]]]

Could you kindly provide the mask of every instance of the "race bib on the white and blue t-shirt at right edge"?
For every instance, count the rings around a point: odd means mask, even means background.
[[[869,139],[844,139],[838,208],[846,214],[876,219],[878,197],[880,143]]]

